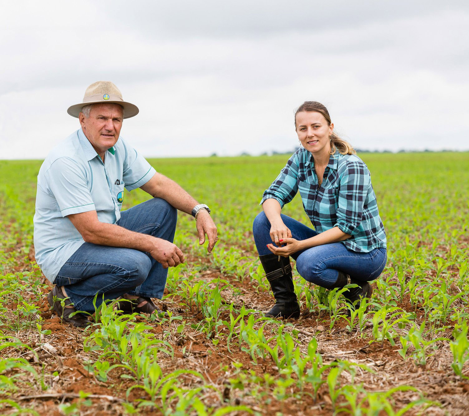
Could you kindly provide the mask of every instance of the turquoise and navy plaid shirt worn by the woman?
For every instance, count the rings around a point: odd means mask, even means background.
[[[339,227],[352,236],[342,243],[356,252],[386,247],[370,171],[357,155],[331,155],[319,187],[312,154],[300,147],[264,192],[261,204],[273,198],[283,208],[298,191],[316,231]]]

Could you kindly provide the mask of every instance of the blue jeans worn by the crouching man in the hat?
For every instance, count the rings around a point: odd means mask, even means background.
[[[177,210],[165,200],[153,198],[121,213],[117,222],[131,231],[173,242]],[[124,293],[146,298],[163,297],[167,269],[150,254],[132,248],[83,243],[62,266],[54,283],[65,286],[76,310],[94,312],[104,299]]]

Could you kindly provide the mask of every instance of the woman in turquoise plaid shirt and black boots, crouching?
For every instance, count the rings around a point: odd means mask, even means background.
[[[358,285],[344,292],[352,308],[371,297],[368,282],[386,265],[386,232],[365,163],[333,131],[321,103],[305,101],[296,110],[295,129],[302,147],[264,192],[264,212],[253,224],[259,259],[276,300],[265,315],[281,318],[300,316],[289,256],[298,273],[315,285]],[[316,231],[281,214],[298,191]]]

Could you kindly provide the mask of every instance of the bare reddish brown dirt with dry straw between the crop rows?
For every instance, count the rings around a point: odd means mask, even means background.
[[[30,250],[28,255],[30,260],[31,256],[33,258],[34,252]],[[220,276],[220,270],[210,268],[211,263],[206,258],[188,256],[187,261],[204,264],[207,268],[200,273],[200,279],[210,281]],[[24,263],[17,267],[20,270],[28,270],[29,266]],[[262,291],[257,292],[256,286],[246,278],[242,281],[233,276],[222,276],[222,278],[241,290],[238,300],[240,305],[241,302],[244,302],[247,308],[253,307],[263,310],[271,306],[271,294]],[[43,292],[47,293],[47,291],[48,289],[45,289]],[[167,293],[167,290],[165,293]],[[229,302],[234,301],[231,293],[223,293],[223,295],[229,297]],[[252,374],[259,377],[263,377],[265,374],[276,376],[278,369],[275,363],[271,359],[263,359],[262,357],[257,357],[257,362],[254,362],[249,354],[239,350],[234,340],[230,344],[230,352],[226,337],[219,337],[219,344],[214,346],[212,340],[206,339],[204,334],[199,334],[190,328],[191,324],[198,324],[203,319],[202,314],[195,308],[181,306],[181,301],[180,298],[174,296],[164,302],[166,308],[172,311],[174,315],[180,314],[183,316],[186,325],[181,336],[168,338],[174,347],[174,356],[163,357],[160,365],[165,373],[182,368],[200,372],[205,382],[215,389],[213,392],[207,392],[205,396],[207,405],[218,408],[221,405],[220,400],[224,398],[226,403],[246,405],[252,410],[265,415],[272,415],[275,412],[285,415],[329,415],[332,413],[332,401],[326,386],[319,389],[316,402],[307,394],[301,395],[301,398],[300,396],[295,397],[293,393],[299,394],[296,387],[291,389],[292,397],[283,401],[277,401],[272,394],[272,390],[269,389],[263,390],[267,395],[262,396],[261,399],[261,397],[251,395],[250,388],[252,386],[246,385],[245,389],[233,388],[229,384],[229,380],[238,371],[234,363],[239,363],[242,370],[251,371]],[[111,370],[108,373],[106,382],[99,381],[98,378],[89,373],[85,361],[93,356],[83,352],[83,336],[86,336],[87,333],[67,324],[62,324],[61,320],[51,313],[45,297],[43,300],[36,302],[36,305],[39,307],[40,316],[44,319],[43,329],[50,330],[51,334],[45,336],[42,341],[38,339],[37,335],[35,339],[30,339],[28,333],[11,335],[19,337],[31,348],[38,348],[37,346],[40,346],[41,342],[48,342],[56,349],[56,354],[38,349],[37,357],[32,354],[27,355],[27,357],[31,365],[35,366],[38,371],[41,371],[40,365],[44,365],[45,374],[51,375],[45,378],[45,382],[49,385],[46,392],[64,394],[64,396],[24,400],[21,401],[22,405],[34,408],[40,415],[59,415],[60,413],[57,410],[59,403],[77,403],[80,400],[67,396],[67,394],[83,391],[98,396],[116,398],[111,401],[104,398],[93,398],[92,407],[86,408],[98,415],[107,415],[122,413],[123,409],[119,400],[132,402],[150,399],[150,396],[140,388],[131,390],[127,397],[128,389],[136,385],[136,381],[121,378],[122,375],[128,374],[122,368]],[[161,303],[159,305],[161,306]],[[407,312],[416,313],[417,322],[421,322],[424,318],[421,306],[411,305],[408,297],[404,298],[397,306]],[[15,308],[15,302],[8,303],[8,309],[14,310]],[[220,318],[229,320],[229,314],[223,312]],[[136,321],[147,322],[151,325],[144,317],[137,317]],[[303,349],[306,348],[311,339],[309,334],[315,335],[318,340],[318,350],[322,354],[325,363],[348,360],[370,367],[374,373],[357,372],[355,380],[356,384],[363,383],[367,391],[386,391],[396,385],[409,384],[415,385],[419,391],[425,393],[428,399],[437,401],[442,405],[441,412],[436,408],[434,413],[430,412],[429,414],[443,414],[444,411],[449,411],[451,414],[463,414],[461,412],[469,407],[469,384],[454,376],[451,370],[451,354],[448,353],[449,348],[447,346],[437,350],[424,366],[419,366],[412,360],[402,360],[398,353],[399,342],[395,346],[390,345],[388,341],[384,343],[372,342],[370,329],[365,331],[363,337],[360,337],[356,332],[349,334],[345,319],[337,320],[333,328],[329,330],[330,322],[330,318],[325,312],[318,315],[317,312],[310,313],[304,308],[300,319],[286,321],[286,323],[294,324],[295,329],[300,331],[297,342]],[[150,332],[157,335],[162,334],[163,331],[167,331],[167,325],[151,325]],[[270,330],[268,325],[265,328]],[[227,328],[221,326],[220,332],[227,333]],[[267,332],[265,331],[265,333]],[[450,333],[446,334],[446,336],[449,335]],[[9,349],[4,350],[2,353],[14,355],[15,351]],[[57,372],[58,376],[53,376],[54,372]],[[194,386],[191,377],[182,376],[181,380],[187,386]],[[346,379],[342,379],[342,383],[347,384],[347,382]],[[25,383],[10,398],[15,400],[21,396],[39,396],[43,393],[39,386],[31,386]],[[412,400],[416,400],[414,393],[399,393],[394,397],[395,408],[403,408]],[[145,410],[144,414],[159,413]],[[243,413],[240,412],[239,414]]]

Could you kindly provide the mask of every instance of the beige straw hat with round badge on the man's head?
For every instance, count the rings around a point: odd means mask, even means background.
[[[82,108],[88,104],[100,102],[120,104],[124,108],[124,118],[136,116],[138,114],[137,106],[122,100],[122,93],[110,81],[98,81],[91,84],[85,91],[83,102],[68,107],[67,113],[70,116],[78,118]]]

